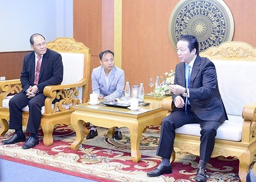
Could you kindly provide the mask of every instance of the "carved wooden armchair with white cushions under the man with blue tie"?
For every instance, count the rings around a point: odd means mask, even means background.
[[[200,56],[216,66],[219,89],[229,120],[217,130],[212,157],[237,156],[239,177],[246,181],[248,167],[256,155],[256,48],[243,42],[225,42],[208,48]],[[163,99],[163,109],[172,111],[172,97]],[[174,147],[199,156],[199,124],[176,130]],[[171,161],[175,160],[175,151]],[[211,161],[210,161],[211,162]]]

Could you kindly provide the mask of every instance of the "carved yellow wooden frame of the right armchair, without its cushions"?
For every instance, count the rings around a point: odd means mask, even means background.
[[[239,60],[239,61],[255,61],[256,64],[256,48],[244,42],[225,42],[218,47],[208,48],[200,53],[201,57],[208,57],[219,60]],[[250,78],[252,80],[252,78]],[[252,84],[256,84],[252,82]],[[246,88],[245,88],[246,89]],[[256,94],[256,91],[255,91]],[[221,95],[222,97],[224,95]],[[250,97],[251,95],[248,95]],[[255,96],[254,96],[255,98]],[[237,156],[239,159],[239,177],[242,182],[246,181],[246,175],[253,157],[256,155],[256,100],[248,103],[243,107],[243,129],[242,140],[239,142],[216,139],[215,147],[211,157],[217,156]],[[162,101],[163,109],[168,110],[168,114],[172,111],[172,97],[164,98]],[[200,137],[186,134],[176,134],[174,147],[181,151],[190,152],[199,156]],[[172,152],[171,161],[175,160],[175,151]]]

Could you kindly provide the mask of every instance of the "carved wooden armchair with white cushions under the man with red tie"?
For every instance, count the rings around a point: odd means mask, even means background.
[[[47,43],[47,48],[62,55],[64,67],[61,85],[47,86],[44,95],[47,97],[42,107],[40,126],[44,133],[44,145],[53,144],[53,129],[59,124],[70,125],[72,106],[88,100],[88,79],[90,72],[90,48],[72,38],[57,38]],[[0,135],[9,130],[9,99],[22,90],[20,79],[0,82]],[[60,101],[53,103],[53,100]],[[22,125],[28,120],[28,106],[22,109]]]

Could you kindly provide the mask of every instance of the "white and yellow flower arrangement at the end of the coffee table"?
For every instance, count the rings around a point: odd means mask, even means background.
[[[173,85],[175,72],[171,69],[170,73],[166,72],[163,74],[167,77],[160,77],[163,80],[163,82],[160,84],[159,87],[155,88],[154,91],[152,92],[152,95],[154,95],[154,97],[163,97],[164,95],[172,94],[171,91],[168,89],[168,86]]]

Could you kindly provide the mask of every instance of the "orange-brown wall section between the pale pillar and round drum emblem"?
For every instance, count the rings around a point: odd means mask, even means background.
[[[150,91],[148,78],[162,76],[178,62],[168,39],[175,4],[173,0],[123,1],[122,68],[126,80],[131,85],[143,82],[146,92]]]

